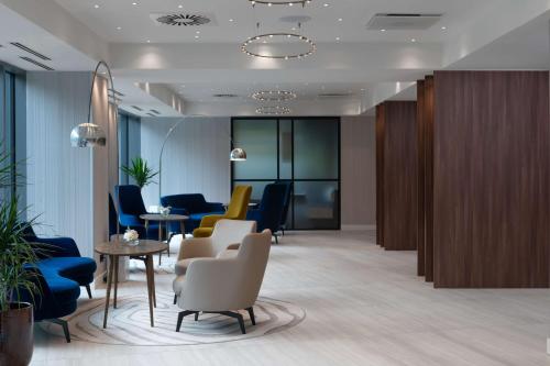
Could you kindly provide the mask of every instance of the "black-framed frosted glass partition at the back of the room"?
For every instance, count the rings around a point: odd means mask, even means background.
[[[232,165],[232,188],[252,186],[258,202],[267,184],[292,181],[288,229],[340,229],[339,118],[233,118],[231,133],[248,155]]]

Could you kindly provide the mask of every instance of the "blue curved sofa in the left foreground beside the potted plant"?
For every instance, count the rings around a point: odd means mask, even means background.
[[[96,260],[81,257],[70,237],[37,237],[32,229],[29,229],[25,240],[33,243],[38,257],[36,265],[28,266],[28,270],[34,273],[35,282],[42,293],[32,297],[23,291],[21,300],[34,304],[34,321],[46,320],[61,324],[65,339],[70,342],[67,322],[59,318],[76,310],[80,286],[86,287],[91,299],[90,284],[97,269]]]

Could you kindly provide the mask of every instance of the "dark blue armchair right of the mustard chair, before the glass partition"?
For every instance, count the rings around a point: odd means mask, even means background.
[[[275,236],[275,243],[278,243],[277,231],[280,228],[286,195],[286,184],[270,184],[265,186],[260,207],[256,210],[249,210],[246,214],[246,220],[256,222],[258,233],[270,229]]]

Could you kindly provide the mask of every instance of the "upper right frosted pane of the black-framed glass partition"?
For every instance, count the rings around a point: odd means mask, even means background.
[[[338,120],[294,121],[294,178],[338,179]]]

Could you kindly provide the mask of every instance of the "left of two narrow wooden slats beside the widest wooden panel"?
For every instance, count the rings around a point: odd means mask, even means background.
[[[426,249],[426,202],[425,202],[425,81],[417,81],[417,156],[418,156],[418,234],[417,234],[417,275],[425,275],[425,249]]]

